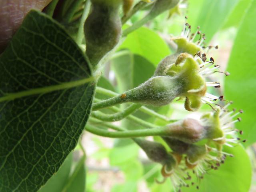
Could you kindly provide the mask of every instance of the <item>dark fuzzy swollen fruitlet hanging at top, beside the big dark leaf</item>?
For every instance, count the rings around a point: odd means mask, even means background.
[[[121,35],[121,0],[91,0],[92,11],[84,23],[86,55],[92,66],[116,46]]]

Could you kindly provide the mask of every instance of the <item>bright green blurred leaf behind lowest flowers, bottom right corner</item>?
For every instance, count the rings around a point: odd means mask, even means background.
[[[182,188],[182,192],[247,192],[250,189],[252,166],[250,159],[241,145],[234,148],[225,147],[225,151],[234,157],[227,157],[218,170],[210,170],[200,181],[199,190],[196,184]],[[196,181],[195,181],[196,182]]]

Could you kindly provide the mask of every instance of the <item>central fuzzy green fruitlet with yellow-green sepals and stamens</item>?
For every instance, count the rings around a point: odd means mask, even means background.
[[[162,64],[172,61],[173,57],[168,56]],[[198,58],[190,54],[179,54],[175,62],[169,64],[162,72],[164,67],[159,67],[156,74],[164,76],[154,76],[140,86],[124,92],[117,103],[139,102],[154,106],[169,104],[176,97],[186,98],[185,108],[188,111],[196,111],[202,103],[212,103],[212,100],[221,99],[206,93],[207,86],[219,85],[215,82],[206,82],[205,76],[209,72],[215,72],[215,68],[201,68]],[[207,63],[209,65],[209,63]],[[212,64],[212,63],[211,63]],[[210,64],[210,65],[211,65]],[[204,71],[206,70],[206,72]],[[206,73],[206,74],[204,74]]]

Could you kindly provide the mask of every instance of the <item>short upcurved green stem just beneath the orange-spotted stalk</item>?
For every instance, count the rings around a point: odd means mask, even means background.
[[[92,112],[91,115],[92,117],[95,118],[99,118],[102,121],[119,121],[125,117],[127,117],[128,115],[130,115],[131,113],[135,112],[138,108],[141,107],[141,104],[132,104],[129,107],[127,107],[126,109],[117,112],[115,114],[104,114],[100,111],[96,111],[96,112]]]

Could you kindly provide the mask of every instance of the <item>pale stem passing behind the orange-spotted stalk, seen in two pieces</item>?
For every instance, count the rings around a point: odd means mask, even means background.
[[[107,90],[107,89],[104,89],[104,88],[101,88],[101,87],[96,87],[96,92],[97,93],[100,93],[100,94],[104,94],[104,95],[107,95],[107,96],[117,96],[118,94],[113,92],[113,91],[110,91],[110,90]],[[165,122],[174,122],[176,120],[170,120],[168,119],[166,116],[163,116],[161,114],[158,114],[157,112],[155,112],[154,110],[151,110],[149,108],[146,108],[145,106],[142,106],[141,108],[139,108],[140,111],[150,115],[150,116],[154,116],[156,118],[159,118],[161,120],[164,120]]]

